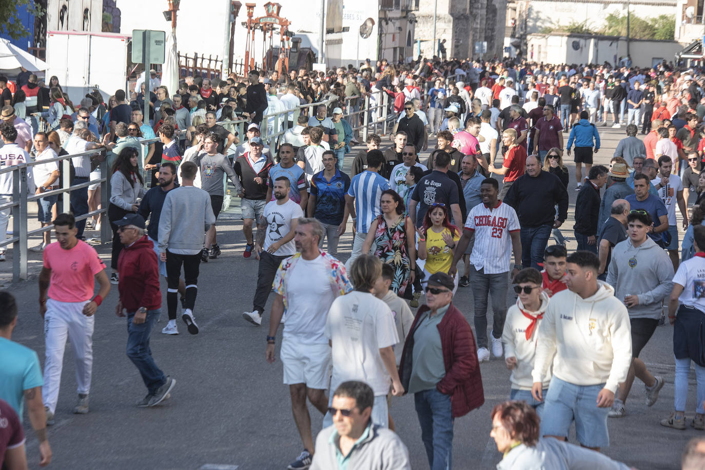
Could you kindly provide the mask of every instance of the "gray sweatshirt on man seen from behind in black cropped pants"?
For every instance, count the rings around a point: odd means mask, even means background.
[[[207,192],[193,186],[169,191],[159,216],[159,252],[196,254],[203,248],[203,234],[216,223]]]

